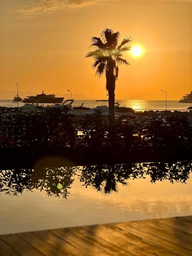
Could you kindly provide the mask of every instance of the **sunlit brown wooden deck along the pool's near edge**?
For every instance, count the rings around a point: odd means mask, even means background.
[[[0,236],[2,256],[191,256],[192,216]]]

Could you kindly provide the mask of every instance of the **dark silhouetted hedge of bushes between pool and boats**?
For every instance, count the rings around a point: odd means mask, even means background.
[[[59,108],[0,109],[1,168],[29,168],[50,154],[74,165],[191,159],[187,116],[122,120],[96,111],[77,123],[66,113]]]

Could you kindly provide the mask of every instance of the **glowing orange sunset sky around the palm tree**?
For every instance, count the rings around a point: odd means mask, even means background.
[[[106,98],[85,58],[105,28],[142,48],[119,67],[117,100],[179,100],[192,90],[192,0],[0,0],[0,90]],[[26,95],[27,96],[27,95]]]

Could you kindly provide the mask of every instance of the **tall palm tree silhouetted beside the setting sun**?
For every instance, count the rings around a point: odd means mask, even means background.
[[[120,33],[113,32],[112,29],[106,28],[101,32],[100,37],[92,37],[92,44],[90,47],[96,48],[92,52],[88,52],[86,57],[93,57],[93,68],[96,68],[96,76],[101,76],[104,72],[106,74],[106,90],[109,96],[109,115],[114,116],[115,103],[115,81],[118,78],[118,64],[129,63],[122,59],[122,52],[131,49],[128,46],[129,38],[124,38],[118,45],[118,38]]]

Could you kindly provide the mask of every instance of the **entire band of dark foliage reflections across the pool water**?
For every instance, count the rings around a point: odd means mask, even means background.
[[[145,178],[146,175],[150,176],[152,183],[157,180],[184,183],[192,171],[192,162],[2,170],[0,171],[0,192],[18,195],[25,189],[31,191],[36,189],[45,191],[49,196],[67,198],[68,188],[74,182],[77,171],[80,182],[83,182],[86,188],[93,186],[98,191],[104,190],[105,193],[109,193],[117,191],[118,183],[126,185],[129,179]],[[62,189],[57,188],[58,183],[62,185]]]

